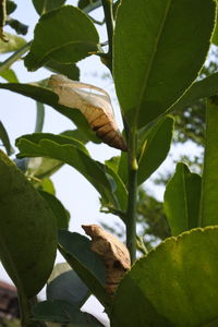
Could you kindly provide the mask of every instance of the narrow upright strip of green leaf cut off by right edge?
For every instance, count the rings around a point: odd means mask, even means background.
[[[218,100],[217,97],[207,101],[206,140],[204,169],[202,181],[201,226],[218,225]]]

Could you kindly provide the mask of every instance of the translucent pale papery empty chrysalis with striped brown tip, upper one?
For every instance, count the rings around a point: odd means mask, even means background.
[[[110,97],[105,89],[69,80],[63,75],[51,75],[49,85],[59,96],[59,104],[72,109],[78,109],[102,142],[123,152],[128,150],[114,120]],[[100,94],[90,93],[82,88],[94,89]]]

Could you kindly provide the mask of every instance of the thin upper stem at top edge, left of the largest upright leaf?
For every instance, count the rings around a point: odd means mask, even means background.
[[[112,39],[113,39],[113,14],[112,14],[112,0],[101,0],[105,12],[106,27],[108,33],[108,53],[107,66],[112,73]]]

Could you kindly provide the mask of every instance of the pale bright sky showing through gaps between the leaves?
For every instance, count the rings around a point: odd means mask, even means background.
[[[29,32],[27,40],[33,38],[33,28],[38,20],[38,15],[35,12],[32,1],[15,1],[19,5],[13,16],[21,20],[26,25],[29,25]],[[68,1],[70,4],[76,4],[77,1]],[[100,17],[101,13],[98,10],[95,17]],[[105,28],[100,27],[101,41],[107,39]],[[12,29],[8,28],[8,32],[13,33]],[[2,56],[3,57],[3,56]],[[3,57],[3,59],[7,56]],[[3,61],[1,59],[1,61]],[[81,81],[85,83],[90,83],[105,88],[112,98],[117,121],[121,129],[121,118],[118,109],[118,101],[114,96],[113,84],[110,78],[102,78],[104,74],[109,74],[109,71],[105,65],[101,64],[100,60],[96,57],[92,57],[83,60],[78,63],[81,68]],[[46,78],[50,75],[49,71],[44,69],[38,70],[35,73],[28,73],[23,65],[23,62],[15,63],[13,65],[14,71],[17,74],[20,82],[34,82],[38,80]],[[2,82],[2,81],[1,81]],[[1,97],[1,108],[0,108],[0,119],[2,120],[4,126],[7,128],[12,144],[16,137],[22,134],[29,134],[34,132],[35,118],[36,118],[36,105],[35,101],[26,98],[24,96],[10,93],[8,90],[0,89]],[[65,117],[58,113],[52,108],[46,108],[46,120],[44,132],[50,132],[58,134],[65,130],[72,130],[72,122]],[[101,145],[87,145],[88,150],[92,156],[100,161],[109,159],[112,156],[119,155],[119,150],[113,149],[105,144]],[[181,149],[173,149],[173,156],[178,157]],[[184,149],[184,154],[196,153],[196,147],[192,145]],[[162,169],[168,169],[171,166],[171,160],[168,160],[162,166]],[[59,170],[53,177],[52,181],[56,185],[57,196],[65,208],[71,213],[71,225],[70,230],[76,231],[84,234],[81,228],[82,223],[89,225],[96,223],[100,220],[112,222],[116,221],[112,215],[105,215],[99,213],[99,201],[98,193],[95,189],[73,168],[64,166]],[[152,185],[150,182],[147,185]],[[155,194],[161,198],[162,189],[157,187]],[[58,255],[58,262],[63,262],[64,259]],[[10,280],[3,268],[0,268],[0,279]],[[97,308],[98,305],[94,300],[90,302],[89,307]],[[99,310],[101,310],[99,307]]]

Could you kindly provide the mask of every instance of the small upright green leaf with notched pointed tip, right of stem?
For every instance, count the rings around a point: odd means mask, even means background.
[[[172,235],[199,226],[201,175],[179,162],[165,192],[165,213]]]

